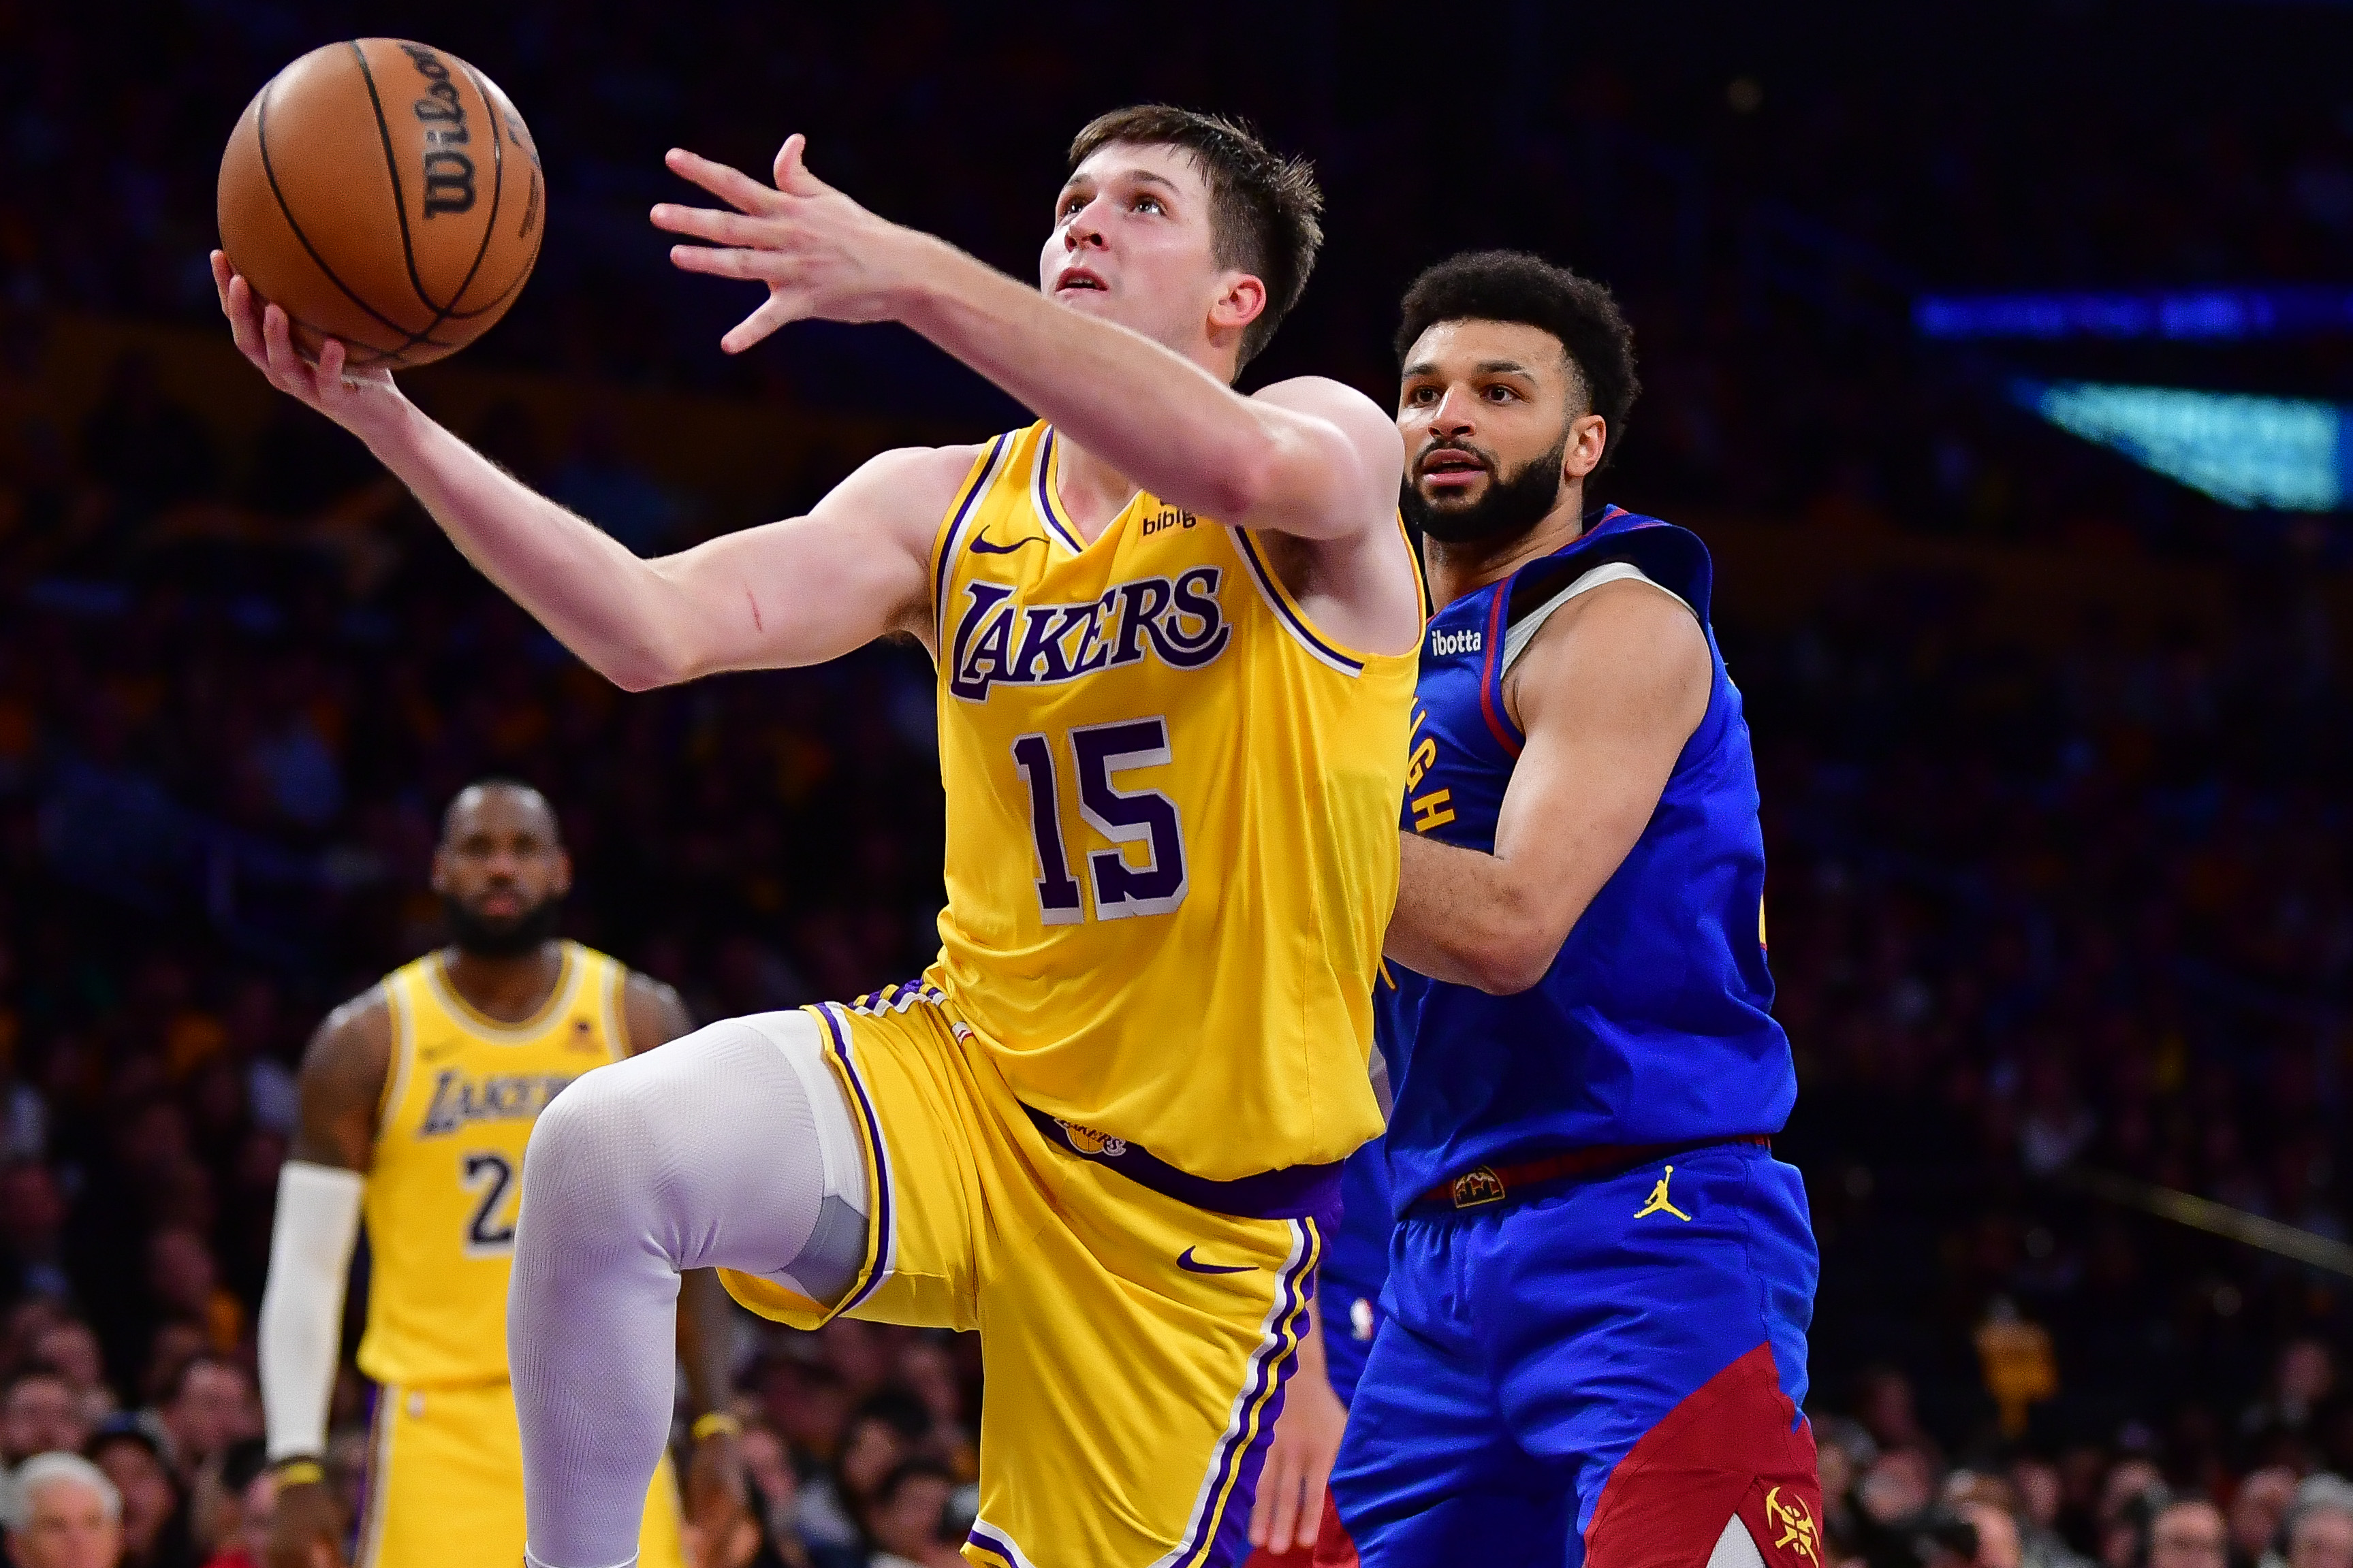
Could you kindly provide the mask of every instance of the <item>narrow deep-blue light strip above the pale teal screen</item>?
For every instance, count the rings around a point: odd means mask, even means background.
[[[2353,331],[2353,289],[2155,289],[2141,294],[1922,294],[1913,327],[1925,339],[2245,339]]]

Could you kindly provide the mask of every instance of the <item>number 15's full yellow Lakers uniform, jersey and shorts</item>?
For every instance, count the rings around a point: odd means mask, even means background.
[[[878,1194],[840,1309],[981,1331],[969,1561],[1200,1568],[1245,1549],[1381,1126],[1414,658],[1334,644],[1249,531],[1148,494],[1080,541],[1056,444],[998,437],[934,545],[939,961],[816,1009]]]

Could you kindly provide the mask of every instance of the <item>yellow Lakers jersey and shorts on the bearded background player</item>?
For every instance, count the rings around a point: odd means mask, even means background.
[[[579,1074],[628,1053],[621,983],[565,943],[555,992],[501,1023],[456,994],[440,954],[393,971],[393,1060],[367,1171],[360,1371],[376,1380],[360,1568],[522,1561],[522,1436],[506,1380],[506,1279],[522,1145]],[[647,1493],[645,1568],[680,1568],[678,1483]]]

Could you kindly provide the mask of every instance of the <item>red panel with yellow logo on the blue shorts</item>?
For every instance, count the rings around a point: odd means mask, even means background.
[[[1704,1568],[1739,1514],[1765,1568],[1828,1568],[1814,1429],[1772,1345],[1708,1378],[1619,1460],[1586,1526],[1588,1568]]]

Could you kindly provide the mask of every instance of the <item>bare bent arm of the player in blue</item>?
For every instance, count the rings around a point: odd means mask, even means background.
[[[1405,835],[1386,952],[1433,980],[1522,992],[1642,837],[1708,712],[1708,639],[1645,583],[1555,614],[1513,668],[1527,733],[1494,853]]]

